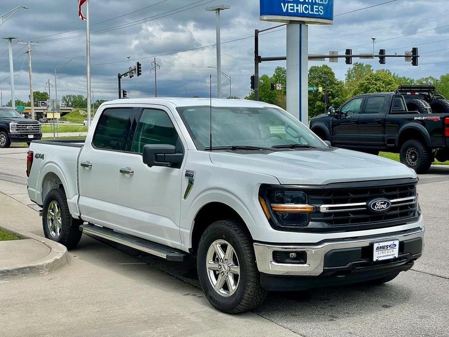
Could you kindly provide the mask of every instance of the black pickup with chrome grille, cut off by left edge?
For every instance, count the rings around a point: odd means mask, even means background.
[[[16,110],[0,108],[0,149],[11,143],[26,142],[42,138],[41,124],[34,119],[22,117]]]

